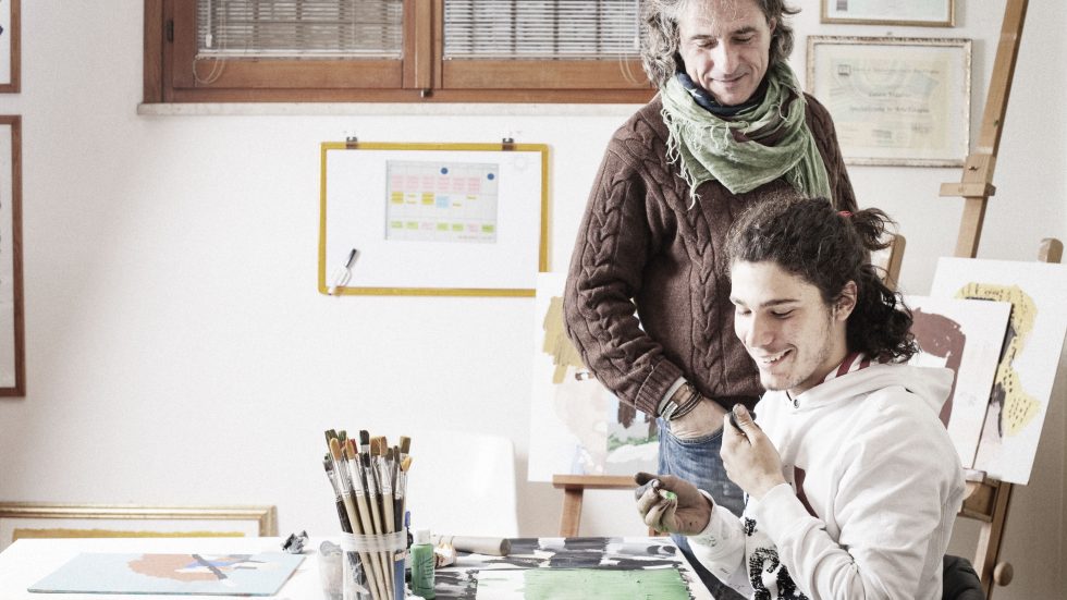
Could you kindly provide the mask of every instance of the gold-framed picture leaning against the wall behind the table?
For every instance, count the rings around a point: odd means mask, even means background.
[[[23,538],[278,535],[274,506],[140,506],[0,502],[0,551]]]

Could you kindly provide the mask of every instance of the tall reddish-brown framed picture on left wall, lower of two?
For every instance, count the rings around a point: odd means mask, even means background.
[[[0,115],[0,396],[26,395],[23,323],[22,118]]]

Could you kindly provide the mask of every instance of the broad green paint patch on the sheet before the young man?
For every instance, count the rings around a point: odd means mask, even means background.
[[[677,568],[530,568],[522,573],[522,597],[526,600],[587,600],[589,598],[688,600],[691,598],[689,588]],[[488,572],[479,574],[479,598],[490,598],[491,589],[487,588],[494,587],[492,579],[486,577],[487,574]],[[510,586],[504,584],[501,587]],[[482,596],[483,593],[487,596]]]

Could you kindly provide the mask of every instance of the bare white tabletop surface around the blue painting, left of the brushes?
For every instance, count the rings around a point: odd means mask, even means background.
[[[281,552],[282,538],[99,538],[21,539],[0,552],[0,598],[3,600],[175,600],[176,598],[244,598],[238,596],[156,596],[105,593],[30,593],[36,584],[82,552],[256,554]],[[275,600],[322,600],[319,581],[318,544],[310,540],[305,558]]]

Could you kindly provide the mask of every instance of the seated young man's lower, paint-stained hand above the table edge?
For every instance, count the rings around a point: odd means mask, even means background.
[[[685,536],[708,527],[712,504],[692,483],[673,475],[648,473],[638,473],[634,480],[645,487],[637,498],[637,510],[649,527]]]

